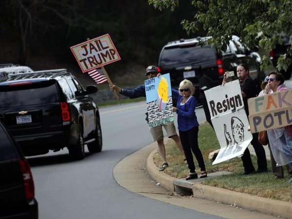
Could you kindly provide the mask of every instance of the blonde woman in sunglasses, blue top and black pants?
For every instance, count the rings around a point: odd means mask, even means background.
[[[193,83],[184,79],[180,83],[179,91],[172,89],[172,96],[177,97],[177,107],[173,107],[172,111],[178,114],[178,129],[180,139],[183,145],[184,154],[190,170],[190,174],[186,180],[197,179],[196,167],[193,160],[192,151],[201,168],[200,178],[207,177],[204,159],[198,144],[199,123],[197,120],[195,109],[197,100],[193,96],[195,89]]]

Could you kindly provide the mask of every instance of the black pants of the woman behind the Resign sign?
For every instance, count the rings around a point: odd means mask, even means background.
[[[253,133],[253,140],[251,144],[253,145],[255,152],[256,152],[256,157],[257,157],[257,171],[267,171],[267,158],[266,158],[266,152],[265,148],[258,142],[257,140],[258,133]],[[252,163],[252,158],[251,154],[248,148],[244,151],[242,157],[241,157],[243,167],[244,167],[244,172],[250,173],[254,172],[255,167]]]

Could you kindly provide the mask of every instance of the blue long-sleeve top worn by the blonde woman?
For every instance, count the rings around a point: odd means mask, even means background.
[[[178,114],[178,129],[180,131],[187,131],[191,128],[199,126],[195,109],[197,107],[197,100],[194,96],[190,96],[188,101],[181,105],[183,96],[179,91],[171,89],[172,96],[177,98],[177,114]]]

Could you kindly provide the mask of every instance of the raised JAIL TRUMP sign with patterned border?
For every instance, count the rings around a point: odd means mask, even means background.
[[[83,73],[121,59],[108,34],[72,46],[70,49]]]

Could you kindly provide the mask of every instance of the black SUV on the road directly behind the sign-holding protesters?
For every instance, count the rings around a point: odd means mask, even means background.
[[[227,46],[226,52],[220,52],[211,46],[201,47],[199,41],[210,37],[197,37],[181,39],[165,45],[160,53],[158,66],[161,73],[170,73],[171,86],[175,89],[186,78],[193,82],[199,100],[199,79],[205,75],[212,80],[212,87],[220,85],[224,72],[234,71],[238,64],[249,66],[250,75],[258,85],[265,78],[264,72],[259,69],[260,55],[242,46],[239,37],[233,36]],[[202,86],[200,86],[201,88]]]

